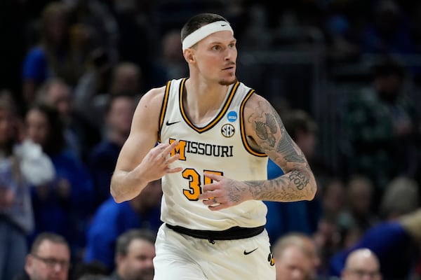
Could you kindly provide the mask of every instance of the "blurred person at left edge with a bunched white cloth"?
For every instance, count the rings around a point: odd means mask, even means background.
[[[0,92],[0,279],[20,272],[27,237],[34,230],[31,186],[53,179],[53,164],[41,147],[20,141],[11,92]]]

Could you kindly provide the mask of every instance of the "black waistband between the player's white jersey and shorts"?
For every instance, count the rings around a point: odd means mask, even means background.
[[[261,225],[257,228],[241,228],[233,227],[227,230],[190,230],[189,228],[183,228],[179,225],[168,225],[168,228],[175,232],[182,233],[183,235],[189,235],[191,237],[208,239],[210,243],[215,243],[215,240],[232,240],[232,239],[243,239],[260,235],[265,230],[265,225]]]

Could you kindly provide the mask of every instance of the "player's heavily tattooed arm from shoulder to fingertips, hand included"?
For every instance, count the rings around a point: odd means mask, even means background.
[[[246,200],[312,200],[316,194],[313,172],[269,102],[253,94],[246,103],[244,122],[248,144],[255,151],[269,155],[285,174],[272,180],[236,181],[205,173],[213,183],[203,186],[199,200],[203,200],[203,204],[212,211],[226,209]]]

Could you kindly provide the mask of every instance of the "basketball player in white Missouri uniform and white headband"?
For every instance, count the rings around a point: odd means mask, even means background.
[[[275,279],[262,200],[312,200],[314,176],[272,106],[236,79],[229,22],[199,14],[181,38],[189,78],[140,100],[112,196],[162,178],[154,279]],[[268,156],[285,172],[270,181]]]

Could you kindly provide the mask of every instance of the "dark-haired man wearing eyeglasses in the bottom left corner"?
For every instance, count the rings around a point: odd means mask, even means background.
[[[69,244],[51,232],[39,234],[25,262],[26,276],[16,280],[67,280],[70,267]]]

